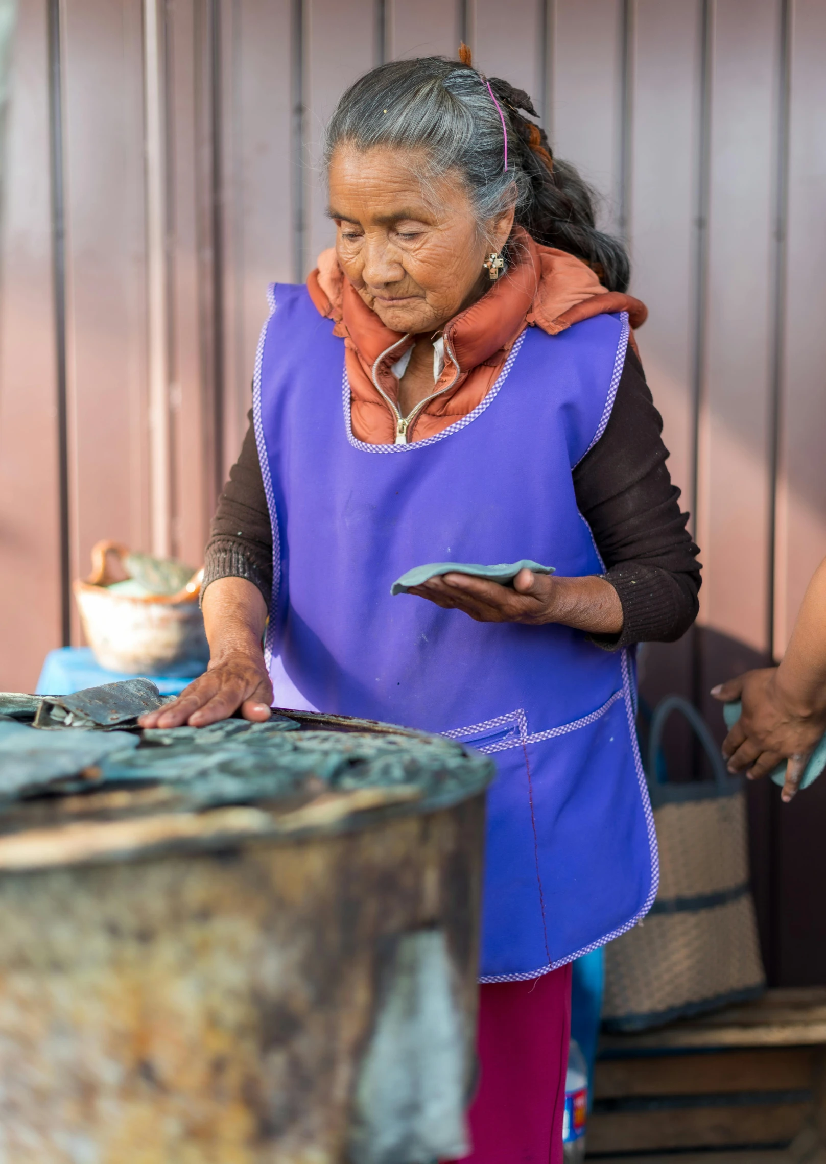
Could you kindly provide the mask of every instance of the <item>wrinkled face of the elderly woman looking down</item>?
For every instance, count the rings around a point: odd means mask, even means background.
[[[448,173],[425,190],[414,161],[386,147],[339,147],[329,215],[342,270],[382,322],[433,333],[490,285],[482,263],[507,241],[513,210],[483,234],[461,180]]]

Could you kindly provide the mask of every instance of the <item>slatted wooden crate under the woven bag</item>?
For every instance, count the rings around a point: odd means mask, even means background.
[[[812,1123],[824,1080],[823,988],[769,991],[661,1030],[606,1036],[588,1155],[621,1154],[626,1164],[641,1152],[648,1164],[667,1156],[672,1164],[781,1164]]]

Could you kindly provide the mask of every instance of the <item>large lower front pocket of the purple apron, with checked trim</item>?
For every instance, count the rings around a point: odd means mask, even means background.
[[[541,974],[645,910],[656,849],[622,696],[541,731],[528,731],[517,710],[446,732],[497,761],[487,794],[485,981]]]

